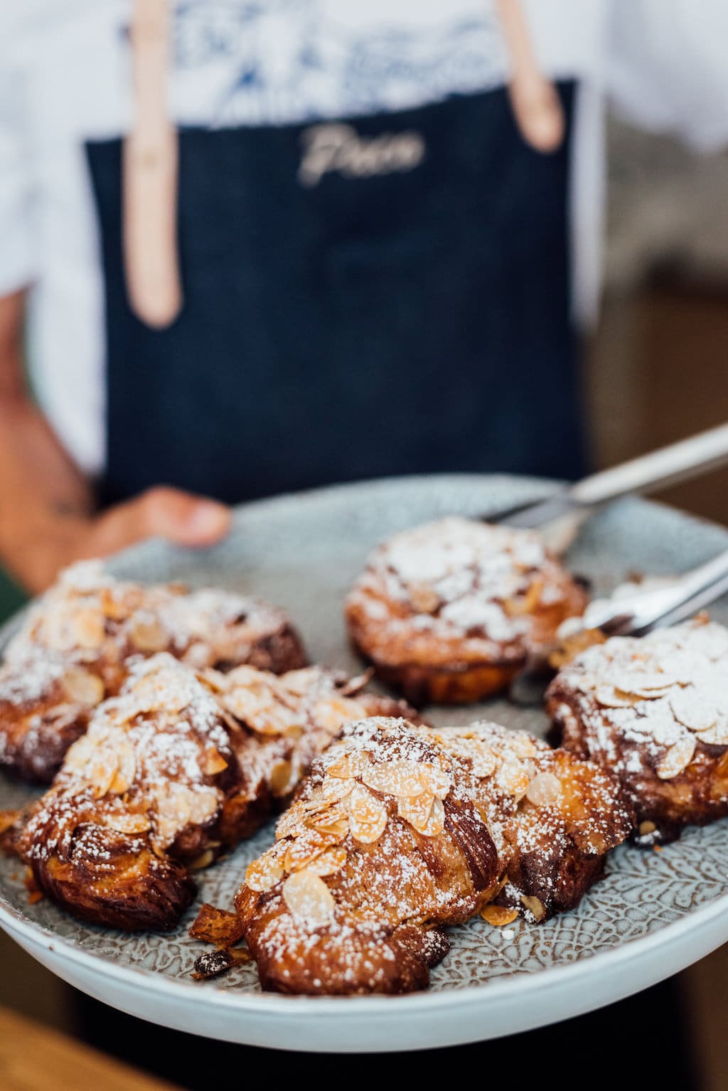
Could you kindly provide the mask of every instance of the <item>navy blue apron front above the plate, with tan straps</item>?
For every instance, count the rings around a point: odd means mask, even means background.
[[[236,502],[395,473],[582,469],[570,323],[572,84],[554,155],[505,89],[348,120],[422,161],[300,180],[307,127],[180,133],[184,307],[126,302],[121,144],[88,146],[106,280],[106,502]]]

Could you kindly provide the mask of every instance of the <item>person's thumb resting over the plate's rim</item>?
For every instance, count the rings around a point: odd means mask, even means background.
[[[211,546],[229,529],[230,509],[223,504],[160,485],[106,512],[95,537],[99,552],[111,552],[145,538]]]

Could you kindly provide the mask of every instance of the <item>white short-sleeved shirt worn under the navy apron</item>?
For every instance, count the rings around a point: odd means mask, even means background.
[[[599,280],[603,108],[699,147],[728,139],[725,0],[523,0],[538,60],[580,83],[575,312]],[[40,403],[90,473],[105,457],[104,287],[84,145],[131,118],[130,0],[0,5],[0,295],[32,286]],[[185,125],[361,116],[501,86],[492,0],[177,0],[170,107]]]

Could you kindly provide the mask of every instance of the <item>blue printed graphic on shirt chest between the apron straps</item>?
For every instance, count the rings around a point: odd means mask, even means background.
[[[349,0],[353,2],[353,0]],[[182,0],[181,73],[218,72],[213,124],[374,113],[497,86],[507,59],[485,0],[426,25],[348,25],[325,0]]]

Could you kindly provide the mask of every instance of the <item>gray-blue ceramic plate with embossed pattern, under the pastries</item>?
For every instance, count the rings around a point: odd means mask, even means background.
[[[145,580],[189,579],[253,591],[287,608],[315,660],[356,669],[341,601],[376,541],[448,513],[480,514],[547,494],[548,482],[505,477],[400,479],[284,496],[242,508],[231,537],[206,553],[150,542],[110,565]],[[628,500],[595,516],[569,563],[597,590],[627,573],[681,572],[728,546],[728,532]],[[728,603],[714,609],[728,621]],[[0,634],[7,638],[9,626]],[[543,733],[538,711],[505,702],[435,710],[438,723],[487,716]],[[0,808],[32,796],[0,779]],[[205,873],[199,901],[229,907],[267,828]],[[16,862],[0,862],[0,924],[72,984],[125,1011],[181,1030],[256,1045],[380,1051],[495,1038],[610,1003],[689,964],[728,939],[728,822],[691,829],[662,853],[622,848],[579,909],[537,927],[473,921],[426,994],[350,999],[263,995],[247,964],[205,984],[190,980],[199,948],[186,925],[170,936],[126,936],[82,925],[43,901],[27,904]]]

